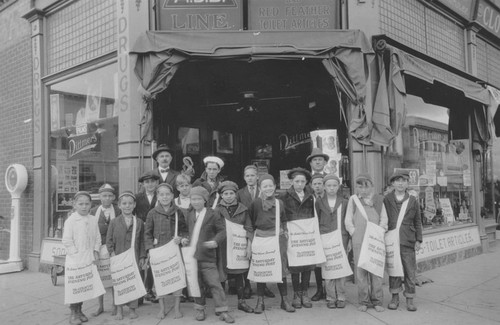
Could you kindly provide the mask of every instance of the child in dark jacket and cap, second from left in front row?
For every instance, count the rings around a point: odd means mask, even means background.
[[[134,241],[135,258],[139,269],[142,269],[146,260],[146,251],[144,249],[144,222],[137,218],[133,211],[135,209],[135,195],[130,191],[125,191],[118,197],[118,206],[122,214],[111,220],[108,234],[106,236],[106,246],[110,256],[119,255],[130,249]],[[136,223],[135,239],[132,239],[133,224]],[[138,306],[138,300],[129,302],[130,319],[138,317],[135,309]],[[116,319],[123,319],[123,305],[117,306]]]

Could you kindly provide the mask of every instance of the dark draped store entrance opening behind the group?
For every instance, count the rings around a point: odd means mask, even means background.
[[[248,164],[277,180],[280,171],[309,169],[314,130],[336,130],[333,145],[347,155],[339,99],[320,60],[191,61],[158,96],[153,116],[155,140],[175,148],[173,167],[190,156],[196,177],[207,155],[221,157],[222,174],[240,185]]]

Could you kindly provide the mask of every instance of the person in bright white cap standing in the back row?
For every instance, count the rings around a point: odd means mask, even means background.
[[[219,201],[217,188],[220,182],[224,181],[224,177],[220,175],[221,169],[224,167],[224,161],[219,157],[208,156],[203,159],[205,171],[200,178],[194,181],[193,187],[201,186],[209,193],[207,207],[215,208]]]

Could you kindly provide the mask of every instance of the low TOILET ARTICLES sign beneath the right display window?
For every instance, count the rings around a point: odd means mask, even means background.
[[[477,227],[424,235],[417,261],[481,245]]]

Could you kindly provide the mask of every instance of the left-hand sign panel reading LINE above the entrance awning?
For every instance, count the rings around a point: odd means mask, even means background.
[[[160,30],[242,30],[242,0],[157,0]]]

